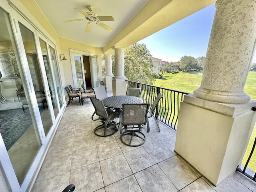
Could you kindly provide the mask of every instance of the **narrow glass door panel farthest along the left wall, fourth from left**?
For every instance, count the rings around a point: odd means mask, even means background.
[[[56,87],[57,87],[57,95],[58,95],[58,105],[60,106],[60,108],[63,106],[63,98],[62,98],[62,91],[60,90],[61,86],[60,86],[60,76],[58,73],[58,66],[57,66],[57,62],[56,62],[56,55],[55,55],[55,50],[54,48],[52,48],[49,45],[49,49],[50,49],[50,54],[51,54],[51,60],[52,60],[52,70],[53,70],[53,74],[54,74],[54,81],[56,83]]]

